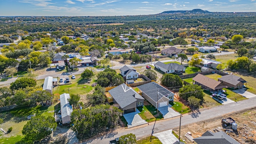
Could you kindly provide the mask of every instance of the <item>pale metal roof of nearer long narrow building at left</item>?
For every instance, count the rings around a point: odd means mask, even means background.
[[[64,93],[60,95],[60,108],[62,118],[65,116],[70,116],[71,112],[73,112],[72,106],[68,102],[68,98],[70,98],[69,94]]]

